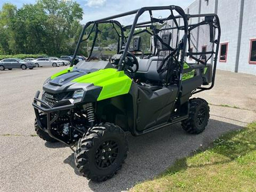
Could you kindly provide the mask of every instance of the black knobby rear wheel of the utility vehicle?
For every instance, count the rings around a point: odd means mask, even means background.
[[[210,108],[208,103],[201,98],[189,100],[189,118],[181,122],[182,128],[188,133],[201,133],[208,124]]]

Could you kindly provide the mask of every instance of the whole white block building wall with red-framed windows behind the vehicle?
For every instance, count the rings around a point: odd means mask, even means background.
[[[189,14],[199,14],[199,1],[194,1],[187,9]],[[214,13],[216,0],[201,0],[201,14]],[[185,9],[185,13],[187,13]],[[217,69],[235,71],[238,47],[238,31],[240,19],[241,0],[218,0],[217,15],[220,19],[220,43],[228,43],[227,60],[219,62],[218,51]],[[200,19],[201,20],[201,19]],[[193,24],[197,20],[189,21]],[[256,65],[249,64],[250,39],[256,38],[256,0],[244,0],[242,35],[238,72],[256,75]],[[189,60],[187,60],[189,61]]]

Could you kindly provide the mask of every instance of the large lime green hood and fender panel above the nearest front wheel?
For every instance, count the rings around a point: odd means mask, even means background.
[[[132,80],[124,71],[117,71],[117,69],[100,69],[93,73],[78,77],[72,82],[78,83],[93,83],[95,86],[102,87],[97,101],[115,97],[122,94],[127,94],[130,90]]]

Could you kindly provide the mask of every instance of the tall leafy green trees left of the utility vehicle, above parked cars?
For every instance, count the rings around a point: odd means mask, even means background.
[[[0,54],[73,53],[83,11],[74,1],[38,0],[20,9],[5,3],[0,9]]]

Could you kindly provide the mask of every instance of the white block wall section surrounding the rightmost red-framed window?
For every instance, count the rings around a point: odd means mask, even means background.
[[[249,64],[251,39],[256,39],[256,1],[245,0],[238,72],[256,75],[256,64]]]

